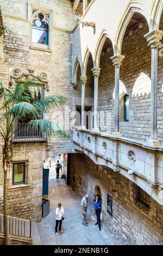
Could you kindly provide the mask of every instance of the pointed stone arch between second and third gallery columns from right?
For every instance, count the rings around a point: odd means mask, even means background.
[[[97,67],[97,68],[99,68],[101,52],[102,52],[103,46],[104,46],[105,41],[106,41],[107,38],[110,40],[110,38],[108,36],[108,32],[103,30],[101,35],[99,36],[99,39],[98,39],[98,42],[97,42],[97,45],[96,45],[95,54],[94,54],[94,62],[95,62],[94,66]],[[112,41],[111,41],[111,43],[112,43]]]

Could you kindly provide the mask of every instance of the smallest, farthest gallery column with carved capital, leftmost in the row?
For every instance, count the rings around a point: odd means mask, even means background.
[[[87,77],[86,76],[80,76],[81,84],[82,84],[82,109],[81,109],[81,125],[80,128],[85,129],[85,84]]]

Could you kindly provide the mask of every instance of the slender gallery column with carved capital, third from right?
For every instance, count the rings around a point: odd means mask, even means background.
[[[92,72],[94,76],[94,126],[92,130],[94,132],[98,132],[98,77],[101,72],[101,68],[93,68]]]

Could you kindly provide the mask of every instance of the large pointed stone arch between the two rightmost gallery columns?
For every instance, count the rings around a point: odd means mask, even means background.
[[[132,6],[133,5],[133,6]],[[135,6],[136,5],[136,6]],[[131,20],[131,17],[134,13],[140,13],[142,16],[146,18],[145,12],[142,9],[143,5],[139,2],[130,1],[128,7],[124,11],[122,19],[117,29],[116,38],[115,38],[115,47],[114,47],[114,54],[121,54],[122,49],[122,42],[124,33],[126,32],[126,28]],[[147,18],[146,18],[147,20]],[[148,24],[149,25],[149,24]]]

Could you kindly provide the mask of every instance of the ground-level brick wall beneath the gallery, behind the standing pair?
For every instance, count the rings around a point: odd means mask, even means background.
[[[133,203],[133,182],[113,170],[96,166],[84,154],[73,154],[74,190],[82,198],[89,193],[89,208],[95,214],[92,203],[95,187],[102,192],[102,228],[123,245],[161,245],[163,243],[163,206],[151,199],[149,213],[145,214]],[[82,185],[79,184],[80,178]],[[106,211],[107,194],[112,198],[112,217]]]

